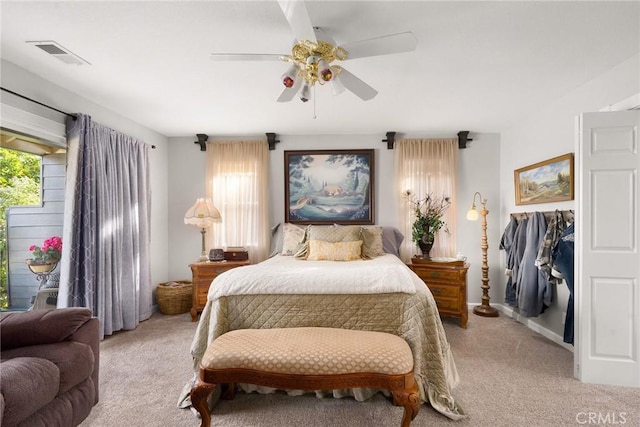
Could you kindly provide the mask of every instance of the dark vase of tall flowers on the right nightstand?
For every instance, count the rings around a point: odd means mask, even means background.
[[[434,196],[431,193],[424,197],[412,198],[410,190],[405,192],[405,197],[411,205],[415,220],[411,226],[411,240],[418,245],[422,257],[429,259],[429,252],[433,247],[436,234],[441,229],[449,232],[443,217],[445,211],[451,206],[451,198],[446,196]]]

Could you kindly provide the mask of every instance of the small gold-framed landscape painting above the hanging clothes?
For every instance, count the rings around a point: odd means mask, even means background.
[[[516,205],[573,200],[573,153],[514,171]]]

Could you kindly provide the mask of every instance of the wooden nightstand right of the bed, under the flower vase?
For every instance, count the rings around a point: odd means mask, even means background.
[[[409,267],[429,287],[442,317],[460,318],[467,327],[467,270],[464,261],[438,262],[412,258]]]

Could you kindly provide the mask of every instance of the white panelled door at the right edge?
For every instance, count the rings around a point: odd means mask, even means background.
[[[640,111],[579,123],[575,376],[640,387]]]

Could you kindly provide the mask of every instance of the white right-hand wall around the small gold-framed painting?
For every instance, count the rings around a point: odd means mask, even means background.
[[[550,211],[574,209],[574,201],[516,206],[513,171],[539,161],[565,153],[574,153],[576,144],[575,119],[583,112],[599,111],[640,92],[640,55],[635,55],[598,78],[576,88],[527,117],[502,133],[500,150],[500,211],[501,230],[509,221],[510,212]],[[504,255],[501,256],[504,268]],[[495,283],[495,282],[494,282]],[[503,295],[505,276],[500,277],[498,292]],[[563,313],[569,292],[565,284],[557,287],[557,298],[538,318],[521,319],[530,327],[540,330],[562,342]],[[576,319],[578,321],[578,319]]]

